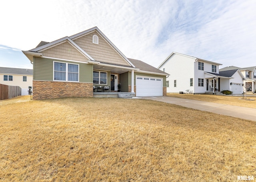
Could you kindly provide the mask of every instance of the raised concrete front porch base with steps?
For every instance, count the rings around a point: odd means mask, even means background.
[[[95,98],[133,98],[135,92],[93,92]]]

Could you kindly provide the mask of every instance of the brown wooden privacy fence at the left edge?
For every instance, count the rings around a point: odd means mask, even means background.
[[[17,96],[21,96],[21,88],[19,86],[0,84],[0,100],[11,99]]]

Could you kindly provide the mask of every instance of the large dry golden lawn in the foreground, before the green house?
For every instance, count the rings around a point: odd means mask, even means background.
[[[256,122],[152,100],[0,101],[0,181],[256,178]]]

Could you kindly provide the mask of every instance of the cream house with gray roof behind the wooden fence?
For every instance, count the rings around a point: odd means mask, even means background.
[[[20,86],[21,95],[28,95],[28,89],[32,88],[33,70],[22,68],[0,67],[0,84]]]

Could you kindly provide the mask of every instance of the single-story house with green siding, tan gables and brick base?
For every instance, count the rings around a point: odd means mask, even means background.
[[[34,99],[93,97],[105,88],[136,96],[166,95],[168,74],[128,59],[98,27],[50,43],[42,41],[22,52],[33,64]]]

